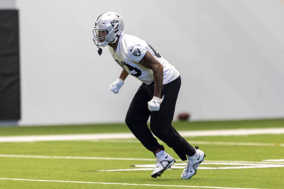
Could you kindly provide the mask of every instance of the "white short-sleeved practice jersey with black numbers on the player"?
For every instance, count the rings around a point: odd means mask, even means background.
[[[149,51],[156,60],[164,67],[163,84],[169,83],[179,77],[179,72],[174,66],[163,58],[156,50],[153,49],[146,41],[138,37],[121,34],[116,51],[109,47],[110,54],[114,60],[130,75],[135,76],[143,83],[150,84],[154,81],[152,69],[145,68],[138,62]]]

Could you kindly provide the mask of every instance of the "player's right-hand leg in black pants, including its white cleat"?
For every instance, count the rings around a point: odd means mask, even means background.
[[[198,150],[198,146],[193,148],[171,124],[180,86],[180,77],[163,86],[164,100],[160,110],[151,113],[150,128],[154,135],[169,147],[172,147],[182,160],[186,160],[187,157],[187,165],[181,174],[181,178],[189,179],[196,174],[197,168],[204,161],[205,154]]]

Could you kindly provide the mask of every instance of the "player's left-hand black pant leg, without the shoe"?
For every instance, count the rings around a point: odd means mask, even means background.
[[[148,101],[150,100],[149,94],[144,91],[141,85],[130,103],[125,123],[143,146],[154,152],[159,148],[164,150],[164,147],[158,143],[147,125],[151,113],[148,109]]]

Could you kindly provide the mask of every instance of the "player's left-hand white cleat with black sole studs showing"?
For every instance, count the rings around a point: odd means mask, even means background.
[[[160,157],[156,157],[156,167],[153,173],[151,174],[151,177],[156,178],[156,177],[161,177],[161,174],[164,173],[165,170],[168,168],[171,168],[171,166],[176,162],[174,158],[168,153],[164,151],[164,153]]]

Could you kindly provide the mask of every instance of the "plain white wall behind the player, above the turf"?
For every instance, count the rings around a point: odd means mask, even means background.
[[[123,122],[141,82],[101,57],[92,26],[119,12],[125,33],[148,41],[181,73],[176,114],[193,120],[284,116],[284,4],[281,0],[17,0],[20,124]]]

